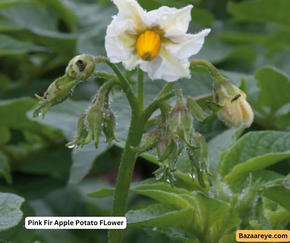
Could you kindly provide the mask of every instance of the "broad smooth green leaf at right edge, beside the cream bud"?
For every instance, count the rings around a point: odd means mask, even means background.
[[[255,72],[260,88],[259,103],[276,111],[290,102],[288,90],[290,90],[289,76],[274,67],[263,67]]]

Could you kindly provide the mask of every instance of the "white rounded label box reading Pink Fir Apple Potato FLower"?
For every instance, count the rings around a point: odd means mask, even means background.
[[[125,229],[125,217],[26,217],[26,229]]]

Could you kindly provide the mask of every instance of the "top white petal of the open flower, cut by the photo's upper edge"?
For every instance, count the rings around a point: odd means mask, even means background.
[[[124,31],[136,33],[136,30],[146,28],[143,22],[143,17],[146,12],[138,2],[135,0],[113,0],[113,2],[119,10],[116,17],[117,23],[114,27],[118,34]],[[123,27],[124,25],[126,28]]]

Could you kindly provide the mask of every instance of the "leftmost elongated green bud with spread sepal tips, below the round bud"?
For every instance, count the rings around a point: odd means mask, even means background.
[[[33,113],[33,117],[38,117],[40,115],[41,109],[43,109],[42,117],[44,118],[45,113],[52,106],[57,105],[65,101],[73,93],[73,89],[78,84],[79,80],[71,79],[64,75],[56,79],[52,84],[49,85],[46,92],[44,92],[43,97],[35,94],[35,97],[40,100],[39,106]]]

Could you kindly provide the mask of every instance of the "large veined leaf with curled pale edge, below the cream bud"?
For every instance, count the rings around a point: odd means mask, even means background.
[[[238,139],[223,156],[220,173],[230,185],[243,174],[262,170],[290,157],[290,133],[249,132]]]

